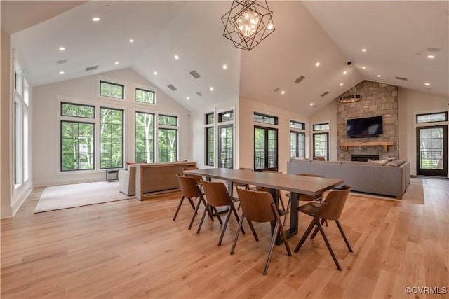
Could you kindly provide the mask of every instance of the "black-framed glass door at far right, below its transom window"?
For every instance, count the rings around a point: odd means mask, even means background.
[[[448,176],[448,126],[417,127],[416,174]]]

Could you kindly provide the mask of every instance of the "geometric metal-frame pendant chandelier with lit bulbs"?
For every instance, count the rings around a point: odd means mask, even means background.
[[[223,36],[236,48],[251,50],[274,32],[273,12],[267,1],[232,1],[231,10],[222,16],[225,25]]]

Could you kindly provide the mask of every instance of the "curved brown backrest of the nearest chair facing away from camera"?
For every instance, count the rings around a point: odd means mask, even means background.
[[[272,209],[273,197],[268,192],[237,189],[243,215],[249,221],[269,222],[276,216]]]

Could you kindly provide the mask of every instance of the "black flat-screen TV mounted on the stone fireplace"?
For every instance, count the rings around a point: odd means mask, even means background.
[[[349,137],[376,137],[383,133],[382,116],[346,120]]]

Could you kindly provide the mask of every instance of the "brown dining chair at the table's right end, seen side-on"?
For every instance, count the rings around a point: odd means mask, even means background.
[[[332,256],[337,269],[342,271],[342,267],[335,256],[332,246],[330,245],[328,236],[323,229],[323,223],[326,220],[333,220],[337,223],[337,227],[342,234],[344,242],[349,249],[349,252],[354,252],[352,250],[351,244],[349,244],[349,240],[344,234],[344,230],[342,225],[340,224],[340,216],[342,215],[342,211],[344,208],[344,204],[346,203],[349,192],[351,191],[351,187],[344,185],[340,190],[331,190],[326,196],[326,200],[324,200],[321,204],[319,202],[309,202],[307,204],[303,204],[302,206],[297,208],[297,211],[300,211],[304,214],[314,217],[309,224],[309,227],[302,235],[300,242],[298,242],[295,252],[301,249],[302,244],[304,244],[307,237],[309,237],[311,230],[314,230],[314,233],[311,235],[311,239],[314,239],[318,232],[321,232],[323,236],[324,242],[328,247],[330,255]]]

